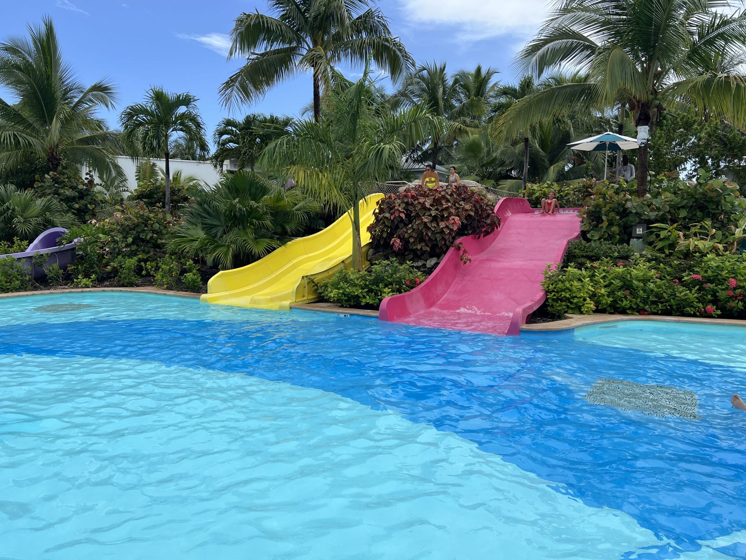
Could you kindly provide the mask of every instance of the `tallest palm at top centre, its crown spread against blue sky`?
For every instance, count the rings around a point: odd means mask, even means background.
[[[412,65],[404,44],[369,0],[269,0],[274,16],[242,13],[231,31],[229,57],[246,63],[220,88],[225,105],[252,103],[280,81],[313,72],[313,118],[321,118],[322,90],[339,63],[372,59],[392,78]]]

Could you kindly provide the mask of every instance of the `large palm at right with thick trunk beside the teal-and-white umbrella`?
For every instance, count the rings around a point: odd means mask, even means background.
[[[728,0],[562,0],[539,33],[518,54],[533,75],[563,65],[588,72],[586,82],[562,84],[527,96],[500,119],[498,134],[515,136],[527,125],[568,107],[629,111],[636,126],[667,122],[666,105],[687,102],[700,114],[746,124],[746,76],[713,67],[746,45],[746,12],[715,8]],[[715,65],[717,66],[717,65]],[[665,125],[663,125],[665,126]],[[638,196],[648,186],[648,146],[640,146]]]

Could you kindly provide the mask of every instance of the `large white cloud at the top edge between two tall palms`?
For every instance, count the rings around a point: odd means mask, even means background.
[[[431,33],[442,36],[454,31],[461,35],[457,37],[460,40],[527,37],[536,32],[548,13],[547,0],[402,0],[402,7],[410,19],[437,25]],[[424,39],[427,28],[418,27]]]

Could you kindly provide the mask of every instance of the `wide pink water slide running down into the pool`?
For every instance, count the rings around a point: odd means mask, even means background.
[[[540,214],[526,199],[505,198],[495,206],[500,228],[477,239],[462,237],[471,262],[457,249],[414,290],[387,297],[380,304],[382,321],[518,335],[542,305],[544,269],[557,264],[570,240],[580,235],[577,208]]]

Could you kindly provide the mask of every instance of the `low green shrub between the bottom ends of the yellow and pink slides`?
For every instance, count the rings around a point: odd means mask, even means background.
[[[319,295],[342,307],[378,308],[383,298],[404,293],[419,286],[427,277],[411,263],[382,261],[369,272],[339,269],[330,279],[316,284]]]

